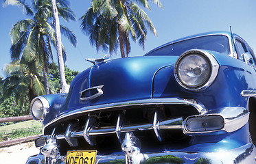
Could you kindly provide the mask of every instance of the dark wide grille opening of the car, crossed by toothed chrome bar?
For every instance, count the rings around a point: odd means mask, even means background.
[[[168,145],[178,148],[181,146],[178,143],[189,143],[190,137],[183,133],[182,121],[187,116],[196,114],[198,111],[191,105],[143,105],[101,109],[54,122],[45,128],[44,135],[51,135],[54,128],[56,129],[56,139],[63,155],[67,150],[84,149],[97,150],[100,154],[120,152],[120,142],[126,132],[133,132],[139,138],[141,151],[143,148],[154,150],[156,146],[165,150]],[[159,133],[161,139],[156,137],[156,133]],[[84,135],[88,137],[87,140]],[[72,146],[70,138],[75,139],[77,144]]]

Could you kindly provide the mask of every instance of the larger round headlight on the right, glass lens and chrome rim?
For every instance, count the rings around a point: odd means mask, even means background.
[[[217,72],[216,59],[200,50],[183,53],[174,68],[176,80],[188,90],[200,90],[209,86],[217,76]]]

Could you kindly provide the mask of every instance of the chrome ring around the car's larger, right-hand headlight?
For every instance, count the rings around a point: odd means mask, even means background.
[[[202,83],[196,84],[196,85],[188,85],[186,84],[183,79],[181,79],[179,75],[179,66],[181,64],[181,61],[183,61],[186,57],[189,57],[191,55],[198,55],[201,59],[205,59],[205,62],[209,64],[209,72],[208,76],[205,78]],[[201,91],[205,90],[207,87],[213,83],[213,81],[216,79],[218,75],[219,70],[219,64],[218,61],[211,55],[211,53],[208,53],[207,51],[198,50],[198,49],[192,49],[189,51],[186,51],[183,53],[180,57],[178,57],[176,64],[174,66],[174,77],[176,81],[185,89],[191,90],[191,91]]]

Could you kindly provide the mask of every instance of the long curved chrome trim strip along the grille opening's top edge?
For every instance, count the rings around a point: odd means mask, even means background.
[[[100,111],[104,109],[110,109],[110,108],[121,108],[121,107],[133,107],[133,106],[141,106],[141,105],[191,105],[192,107],[196,108],[199,113],[205,113],[206,109],[204,105],[197,102],[196,100],[189,100],[189,99],[180,99],[180,98],[150,98],[145,100],[132,100],[132,101],[126,101],[126,102],[115,102],[111,104],[104,104],[104,105],[95,105],[95,106],[89,106],[89,107],[82,107],[80,109],[75,109],[73,111],[69,111],[67,113],[63,113],[62,115],[58,116],[58,118],[55,118],[51,122],[48,122],[43,127],[43,132],[45,131],[45,128],[49,126],[50,124],[54,124],[54,122],[58,122],[59,120],[62,120],[64,118],[68,118],[71,115],[77,115],[81,113],[90,113],[92,111]]]

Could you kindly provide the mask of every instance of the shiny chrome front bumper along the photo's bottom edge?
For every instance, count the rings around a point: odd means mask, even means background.
[[[146,163],[209,163],[209,164],[253,164],[256,163],[256,150],[252,143],[248,143],[240,148],[225,150],[222,152],[148,152],[143,154],[148,156],[143,161]],[[108,156],[97,155],[95,163],[115,163],[115,161],[125,162],[123,152]],[[56,163],[65,163],[65,156],[60,156]],[[31,156],[26,164],[45,164],[45,157],[42,154]]]

